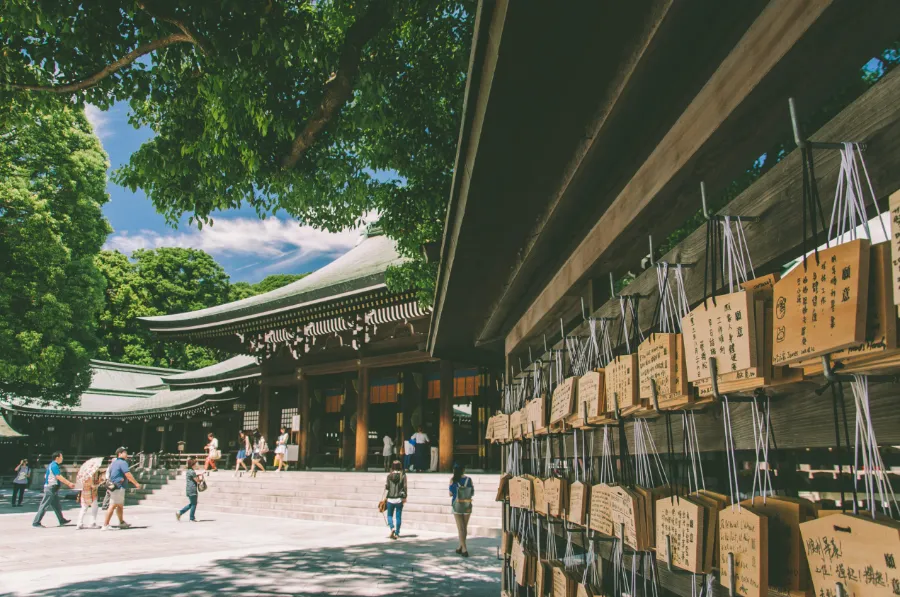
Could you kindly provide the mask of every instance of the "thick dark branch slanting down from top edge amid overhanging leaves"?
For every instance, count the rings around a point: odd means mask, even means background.
[[[390,1],[373,0],[368,10],[347,30],[341,47],[337,72],[325,82],[322,101],[306,121],[291,143],[291,151],[282,165],[293,168],[307,149],[312,147],[317,135],[341,111],[353,95],[353,83],[359,74],[359,63],[364,46],[390,22]]]

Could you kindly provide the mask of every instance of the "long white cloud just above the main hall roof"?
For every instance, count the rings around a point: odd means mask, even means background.
[[[262,261],[253,265],[275,261],[261,266],[261,271],[280,272],[289,265],[319,257],[338,257],[353,248],[358,237],[359,229],[324,232],[280,218],[220,218],[202,230],[173,230],[164,234],[153,230],[117,232],[107,239],[104,248],[129,255],[135,249],[183,247],[202,249],[216,257],[255,256]]]

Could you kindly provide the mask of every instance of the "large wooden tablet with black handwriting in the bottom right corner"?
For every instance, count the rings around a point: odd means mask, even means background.
[[[816,595],[843,583],[851,597],[900,594],[900,524],[833,514],[800,525]]]

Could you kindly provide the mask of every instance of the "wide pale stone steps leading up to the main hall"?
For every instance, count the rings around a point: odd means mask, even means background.
[[[470,475],[475,484],[469,535],[499,537],[501,505],[494,501],[500,476]],[[407,477],[409,499],[403,508],[403,533],[411,530],[456,532],[450,511],[449,474],[421,473]],[[155,473],[141,490],[129,490],[128,503],[172,508],[187,503],[184,471]],[[268,471],[234,477],[231,471],[212,473],[209,489],[200,494],[201,511],[230,512],[385,526],[377,504],[384,490],[384,473]]]

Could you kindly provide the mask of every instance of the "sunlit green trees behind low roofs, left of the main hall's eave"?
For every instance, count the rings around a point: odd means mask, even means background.
[[[222,266],[197,249],[142,249],[132,258],[118,251],[103,251],[97,258],[107,281],[106,308],[100,316],[101,358],[177,369],[198,369],[221,360],[224,355],[211,348],[161,341],[137,318],[228,302],[230,285]]]

